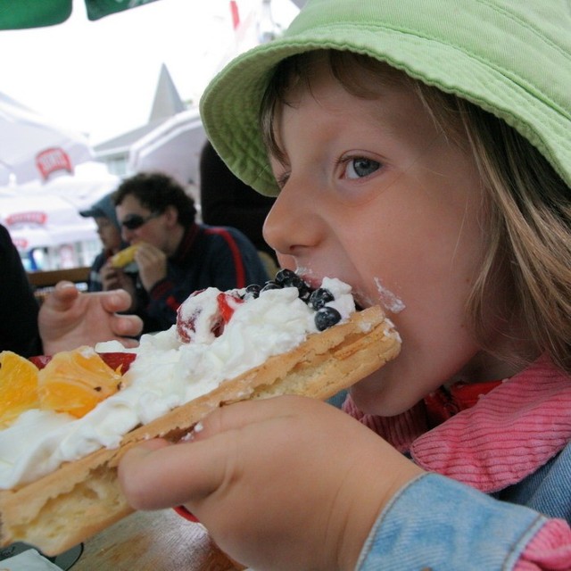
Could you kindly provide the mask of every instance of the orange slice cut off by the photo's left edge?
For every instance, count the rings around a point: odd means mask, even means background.
[[[36,365],[11,351],[0,352],[0,428],[37,404]]]

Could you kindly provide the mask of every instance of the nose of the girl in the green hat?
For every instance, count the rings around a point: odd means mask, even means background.
[[[263,235],[277,253],[299,255],[319,243],[320,220],[309,194],[288,181],[264,222]]]

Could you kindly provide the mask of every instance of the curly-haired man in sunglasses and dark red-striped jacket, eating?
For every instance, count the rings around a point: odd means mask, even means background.
[[[108,263],[103,281],[133,295],[144,332],[174,325],[178,306],[195,291],[268,281],[252,242],[236,228],[197,223],[194,200],[173,178],[139,173],[120,184],[114,200],[123,239],[138,244],[138,277],[133,283]]]

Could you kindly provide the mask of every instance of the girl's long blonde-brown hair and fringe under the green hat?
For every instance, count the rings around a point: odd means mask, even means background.
[[[468,319],[482,348],[491,346],[490,327],[498,318],[518,321],[536,353],[571,372],[571,189],[525,137],[503,120],[455,95],[428,87],[366,55],[319,50],[280,62],[261,103],[264,142],[278,159],[275,120],[297,88],[311,89],[315,66],[327,62],[335,79],[352,95],[378,96],[378,81],[409,85],[434,123],[454,144],[473,154],[483,187],[484,258],[468,299]],[[368,72],[363,76],[362,71]],[[490,315],[487,293],[499,282],[512,291],[503,315]],[[509,335],[509,333],[505,334]],[[516,340],[517,341],[517,340]],[[517,344],[517,343],[516,343]],[[519,364],[527,355],[498,355]]]

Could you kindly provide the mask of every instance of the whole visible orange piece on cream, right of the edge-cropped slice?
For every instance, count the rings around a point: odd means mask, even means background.
[[[81,418],[117,393],[120,380],[90,347],[56,353],[38,374],[39,408]]]

